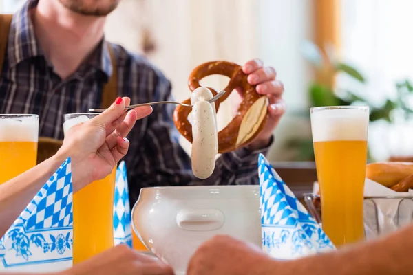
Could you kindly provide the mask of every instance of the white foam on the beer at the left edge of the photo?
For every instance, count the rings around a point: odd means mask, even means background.
[[[37,118],[1,118],[0,142],[38,142],[39,122]]]

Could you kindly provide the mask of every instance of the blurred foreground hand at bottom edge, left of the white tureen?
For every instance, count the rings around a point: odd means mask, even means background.
[[[173,275],[169,265],[158,258],[117,245],[58,275]]]

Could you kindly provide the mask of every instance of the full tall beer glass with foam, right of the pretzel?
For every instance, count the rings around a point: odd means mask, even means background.
[[[317,107],[310,113],[323,230],[336,246],[361,241],[368,107]]]

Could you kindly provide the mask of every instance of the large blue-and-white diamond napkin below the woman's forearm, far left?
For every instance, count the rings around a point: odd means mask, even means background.
[[[72,173],[70,159],[50,177],[0,239],[0,270],[47,272],[52,262],[72,265]]]

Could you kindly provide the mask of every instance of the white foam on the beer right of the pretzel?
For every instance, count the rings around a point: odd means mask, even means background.
[[[322,109],[311,113],[313,142],[367,140],[366,109]]]

